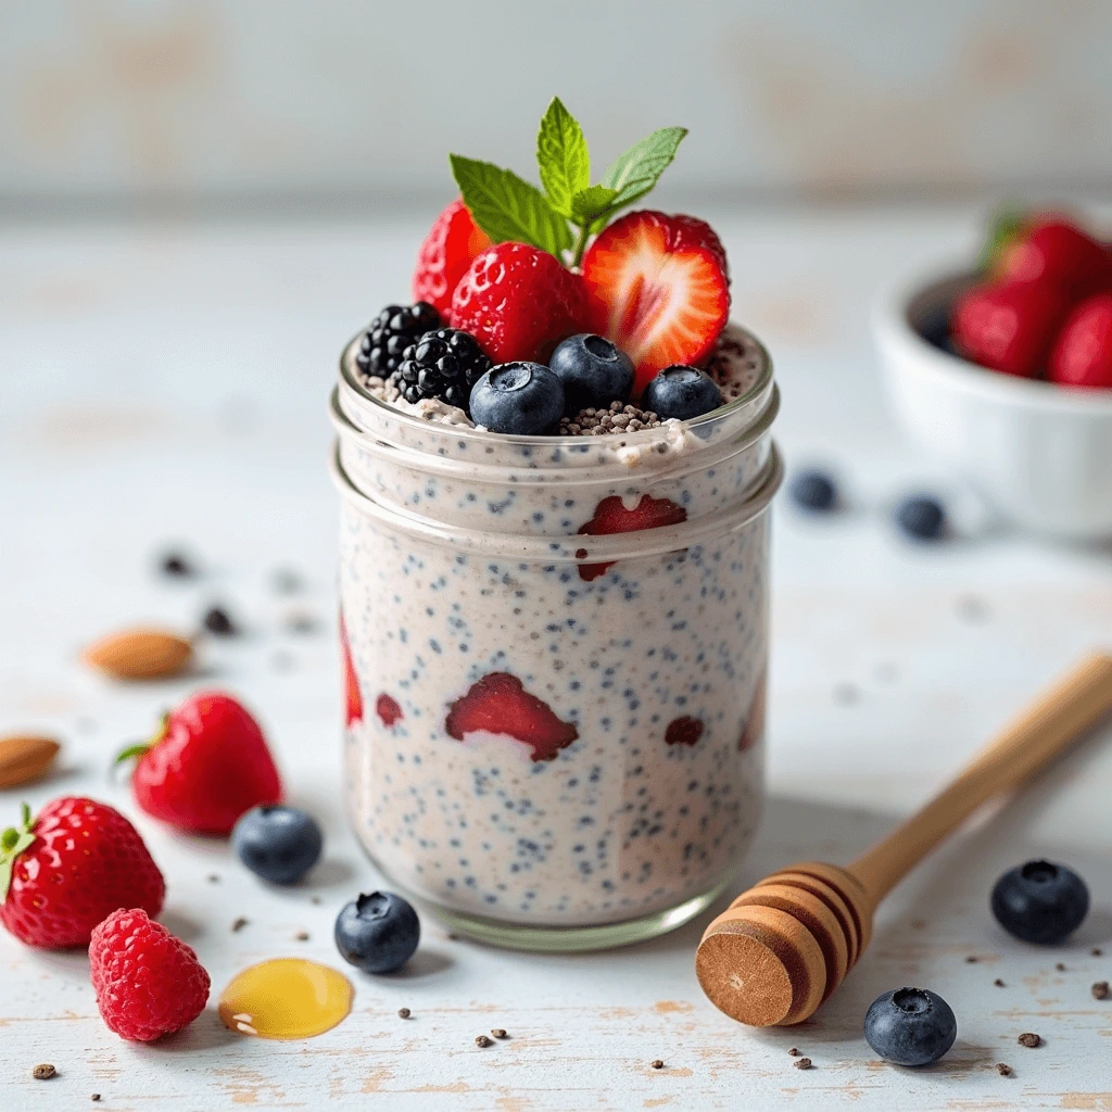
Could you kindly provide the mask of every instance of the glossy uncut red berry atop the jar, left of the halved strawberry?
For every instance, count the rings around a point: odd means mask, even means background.
[[[451,298],[451,326],[470,332],[495,363],[545,363],[583,330],[583,284],[555,256],[497,244],[471,262]]]

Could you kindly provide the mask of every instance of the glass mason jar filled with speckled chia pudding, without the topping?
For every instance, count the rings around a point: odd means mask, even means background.
[[[346,800],[383,874],[535,950],[672,930],[725,887],[764,792],[764,348],[686,426],[497,436],[332,396]]]

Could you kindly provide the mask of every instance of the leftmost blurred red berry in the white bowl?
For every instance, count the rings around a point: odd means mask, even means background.
[[[1037,375],[1066,299],[1054,285],[974,286],[954,302],[950,327],[960,355],[1005,375]]]

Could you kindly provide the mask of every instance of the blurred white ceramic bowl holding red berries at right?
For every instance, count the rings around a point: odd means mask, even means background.
[[[1112,390],[1015,378],[945,350],[950,306],[972,281],[904,282],[876,299],[873,335],[896,418],[1017,525],[1112,537]]]

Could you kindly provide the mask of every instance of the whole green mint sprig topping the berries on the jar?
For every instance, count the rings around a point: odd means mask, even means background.
[[[560,261],[572,251],[570,265],[578,266],[590,236],[656,185],[686,135],[686,128],[659,128],[619,155],[593,186],[583,128],[554,97],[537,132],[544,192],[492,162],[460,155],[449,160],[464,203],[492,242],[530,244]],[[574,237],[569,225],[577,229]]]

